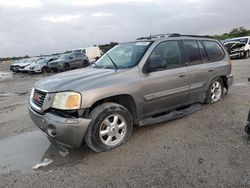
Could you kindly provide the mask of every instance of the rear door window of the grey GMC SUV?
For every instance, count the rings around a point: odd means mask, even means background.
[[[188,58],[189,65],[197,65],[202,63],[201,53],[197,41],[184,40],[183,47]]]

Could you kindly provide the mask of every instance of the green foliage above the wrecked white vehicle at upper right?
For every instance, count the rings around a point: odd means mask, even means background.
[[[224,33],[222,35],[214,35],[213,37],[218,40],[225,40],[229,38],[244,37],[249,35],[250,35],[250,30],[244,27],[236,27],[233,28],[229,33]]]

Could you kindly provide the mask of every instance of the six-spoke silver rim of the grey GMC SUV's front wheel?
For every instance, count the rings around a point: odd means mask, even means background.
[[[103,144],[115,146],[119,144],[127,131],[125,119],[118,114],[107,117],[100,126],[99,136]]]

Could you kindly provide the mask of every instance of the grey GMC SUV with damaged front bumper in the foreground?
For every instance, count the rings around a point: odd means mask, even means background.
[[[115,46],[92,67],[37,82],[29,112],[50,139],[73,147],[85,141],[102,152],[125,143],[133,125],[218,102],[232,81],[230,59],[217,40],[151,36]]]

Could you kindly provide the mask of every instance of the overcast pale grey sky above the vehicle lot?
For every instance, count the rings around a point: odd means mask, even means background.
[[[250,29],[250,0],[0,0],[0,57]]]

